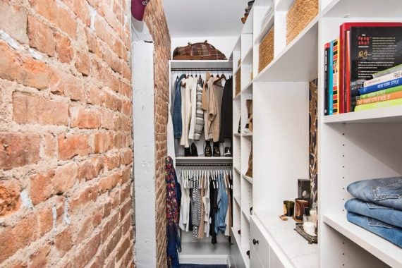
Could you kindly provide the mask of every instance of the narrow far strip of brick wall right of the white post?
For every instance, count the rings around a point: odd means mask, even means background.
[[[167,118],[169,101],[170,35],[162,0],[152,0],[145,10],[144,20],[154,39],[155,84],[155,169],[157,267],[166,267],[166,183]]]

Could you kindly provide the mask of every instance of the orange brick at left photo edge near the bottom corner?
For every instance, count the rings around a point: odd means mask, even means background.
[[[0,263],[13,255],[18,249],[25,248],[37,238],[37,217],[35,214],[28,214],[27,217],[18,221],[15,226],[1,227],[0,241]]]

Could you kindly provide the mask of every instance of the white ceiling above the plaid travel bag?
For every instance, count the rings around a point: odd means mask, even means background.
[[[239,35],[247,0],[163,0],[171,38]]]

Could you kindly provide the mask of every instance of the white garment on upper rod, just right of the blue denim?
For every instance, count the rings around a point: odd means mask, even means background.
[[[181,95],[181,116],[183,117],[183,133],[181,135],[180,144],[185,148],[190,147],[188,141],[188,132],[190,130],[190,118],[191,118],[191,87],[193,87],[193,78],[182,80],[182,95]],[[185,87],[183,87],[185,86]]]

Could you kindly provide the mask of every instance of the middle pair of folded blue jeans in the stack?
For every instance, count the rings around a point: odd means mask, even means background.
[[[363,216],[367,216],[386,224],[391,224],[402,228],[402,211],[391,207],[384,207],[370,202],[364,202],[358,199],[348,200],[345,204],[348,212],[353,212]]]

